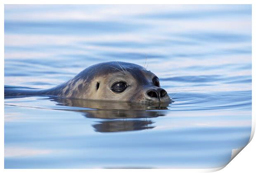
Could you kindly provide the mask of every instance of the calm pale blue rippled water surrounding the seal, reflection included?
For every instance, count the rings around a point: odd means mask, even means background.
[[[47,89],[146,57],[167,109],[5,98],[5,168],[228,164],[251,135],[251,5],[5,5],[5,85]]]

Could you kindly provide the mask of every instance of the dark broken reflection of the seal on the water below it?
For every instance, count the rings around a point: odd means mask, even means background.
[[[151,105],[134,104],[127,102],[88,101],[83,99],[54,98],[52,101],[57,105],[91,108],[90,110],[76,109],[73,111],[83,112],[87,118],[102,119],[93,124],[98,132],[121,132],[152,129],[154,123],[148,118],[164,116],[169,103],[155,103]],[[154,110],[154,111],[150,111]]]

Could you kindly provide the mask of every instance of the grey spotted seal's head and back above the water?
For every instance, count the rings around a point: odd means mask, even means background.
[[[51,89],[5,86],[5,97],[34,95],[132,103],[171,102],[154,73],[140,65],[120,61],[92,65],[73,79]]]

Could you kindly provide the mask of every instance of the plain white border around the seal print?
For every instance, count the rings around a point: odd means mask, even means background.
[[[145,3],[146,2],[146,3]],[[157,3],[156,3],[157,2]],[[254,19],[255,19],[255,12],[256,12],[256,8],[255,8],[255,3],[253,3],[253,0],[147,0],[147,1],[139,1],[139,0],[108,0],[107,2],[104,0],[94,0],[94,1],[89,1],[89,0],[23,0],[22,2],[20,0],[3,0],[2,1],[2,5],[1,5],[1,26],[0,30],[1,30],[1,38],[4,38],[4,27],[3,27],[3,23],[4,23],[4,4],[252,4],[252,57],[254,57],[255,55],[255,44],[254,44],[254,40],[255,40],[255,35],[254,35],[254,30],[256,29],[254,24]],[[2,85],[2,90],[0,92],[1,97],[2,97],[2,101],[1,101],[1,111],[2,111],[2,121],[1,121],[1,130],[2,132],[0,133],[1,135],[1,139],[4,139],[4,40],[2,39],[1,42],[2,46],[0,48],[0,52],[2,54],[2,59],[1,59],[1,63],[0,63],[0,74],[1,74],[1,85]],[[252,74],[256,74],[255,71],[255,58],[252,60]],[[252,75],[252,86],[255,86],[255,75]],[[255,131],[255,90],[252,87],[252,134],[251,134],[251,138],[252,139],[253,135],[254,135],[254,131]],[[232,173],[240,173],[240,172],[246,172],[246,173],[253,173],[255,172],[255,139],[251,140],[251,142],[249,143],[248,146],[246,146],[244,148],[244,150],[241,151],[241,153],[239,154],[239,157],[235,157],[230,164],[228,164],[228,166],[226,166],[224,169],[222,169],[219,172],[223,172],[223,173],[227,173],[227,172],[232,172]],[[4,140],[1,140],[1,161],[0,161],[0,168],[1,170],[4,170]],[[119,169],[114,169],[114,170],[106,170],[106,169],[5,169],[4,171],[6,172],[69,172],[69,171],[78,171],[78,172],[92,172],[92,173],[98,173],[98,172],[130,172],[130,171],[147,171],[147,172],[156,172],[156,171],[161,171],[161,172],[211,172],[211,171],[218,171],[221,168],[216,168],[216,169],[153,169],[153,170],[130,170],[130,169],[124,169],[124,170],[119,170]]]

